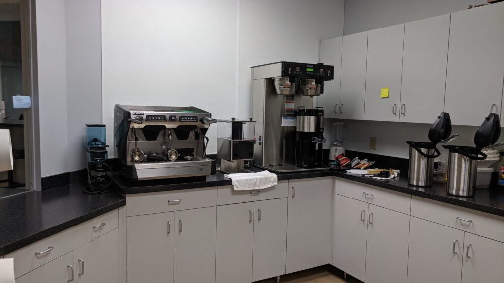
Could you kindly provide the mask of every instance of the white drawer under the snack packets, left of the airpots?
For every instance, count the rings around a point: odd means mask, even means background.
[[[335,193],[410,214],[411,195],[353,181],[335,180]]]

